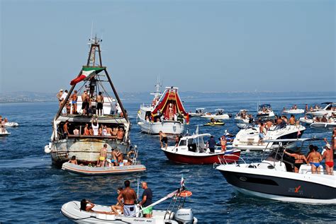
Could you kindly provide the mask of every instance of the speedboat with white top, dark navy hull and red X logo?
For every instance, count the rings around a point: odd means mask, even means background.
[[[294,171],[293,157],[284,153],[286,143],[303,143],[311,138],[274,140],[274,148],[261,162],[227,164],[216,167],[226,181],[243,194],[266,199],[304,204],[336,204],[336,175],[327,175],[320,166],[320,174],[313,174],[310,165]],[[270,141],[269,141],[270,142]],[[293,153],[295,151],[289,151]]]

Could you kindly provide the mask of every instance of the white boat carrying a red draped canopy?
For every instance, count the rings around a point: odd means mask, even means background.
[[[164,93],[159,92],[159,83],[152,104],[141,105],[138,112],[138,125],[147,134],[182,134],[189,124],[189,114],[184,110],[178,88],[166,87]]]

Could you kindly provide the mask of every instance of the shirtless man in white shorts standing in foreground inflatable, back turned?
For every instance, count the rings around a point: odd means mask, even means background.
[[[137,194],[135,194],[135,191],[130,188],[130,181],[126,180],[124,182],[125,189],[122,191],[123,195],[123,214],[126,217],[132,217],[135,215],[135,201],[137,200]]]

